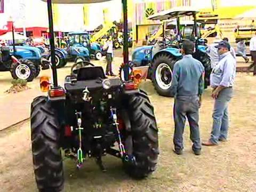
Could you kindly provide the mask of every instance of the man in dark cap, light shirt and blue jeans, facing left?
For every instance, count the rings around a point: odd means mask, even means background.
[[[222,41],[218,45],[220,60],[210,76],[212,98],[215,99],[213,109],[213,125],[211,138],[202,145],[218,145],[218,141],[226,141],[228,136],[228,103],[233,95],[236,74],[236,60],[230,53],[230,45]]]

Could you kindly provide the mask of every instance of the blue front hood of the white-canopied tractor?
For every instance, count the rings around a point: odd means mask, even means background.
[[[145,66],[151,62],[153,57],[152,49],[154,45],[142,46],[135,49],[132,53],[132,62],[135,66]]]

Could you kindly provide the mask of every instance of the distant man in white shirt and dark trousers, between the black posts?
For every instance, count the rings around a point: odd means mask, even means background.
[[[112,61],[113,61],[113,41],[112,37],[108,36],[107,37],[107,42],[104,45],[104,49],[107,50],[107,67],[106,67],[106,75],[110,76],[115,76],[114,73],[112,72]]]

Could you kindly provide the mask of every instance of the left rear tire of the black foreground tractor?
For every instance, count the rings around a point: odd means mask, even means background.
[[[50,102],[44,96],[31,103],[31,141],[35,179],[41,192],[64,187],[60,152],[60,125]]]

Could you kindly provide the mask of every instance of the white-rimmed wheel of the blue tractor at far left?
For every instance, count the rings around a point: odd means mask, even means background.
[[[37,69],[33,62],[27,59],[19,59],[20,63],[14,63],[10,72],[14,79],[25,79],[27,82],[33,81]],[[24,75],[26,73],[27,75]]]

